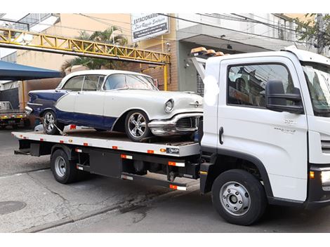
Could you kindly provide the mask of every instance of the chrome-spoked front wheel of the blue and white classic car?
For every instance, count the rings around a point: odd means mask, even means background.
[[[128,112],[125,119],[125,131],[128,138],[133,142],[141,142],[150,136],[150,128],[147,123],[149,123],[149,119],[145,112],[140,110]]]

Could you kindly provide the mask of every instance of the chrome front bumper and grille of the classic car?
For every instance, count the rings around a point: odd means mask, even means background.
[[[148,127],[157,136],[188,135],[197,131],[202,116],[202,112],[178,114],[169,120],[153,120],[148,123]]]

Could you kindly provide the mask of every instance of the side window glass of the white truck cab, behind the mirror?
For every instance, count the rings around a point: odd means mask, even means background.
[[[262,64],[230,67],[227,76],[227,103],[265,107],[265,86],[272,79],[282,81],[284,93],[293,93],[293,81],[284,65]]]

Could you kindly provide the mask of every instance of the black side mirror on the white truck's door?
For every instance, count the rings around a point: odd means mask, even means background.
[[[284,93],[283,83],[280,80],[268,81],[265,88],[266,108],[275,112],[290,112],[302,114],[303,101],[299,88],[293,89],[294,93]],[[286,101],[292,101],[293,105],[287,105]]]

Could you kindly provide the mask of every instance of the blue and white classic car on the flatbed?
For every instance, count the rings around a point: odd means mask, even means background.
[[[55,135],[67,124],[126,132],[139,142],[151,135],[189,135],[197,130],[203,98],[159,91],[152,77],[119,70],[87,70],[65,76],[55,90],[30,91],[27,114],[42,117]]]

